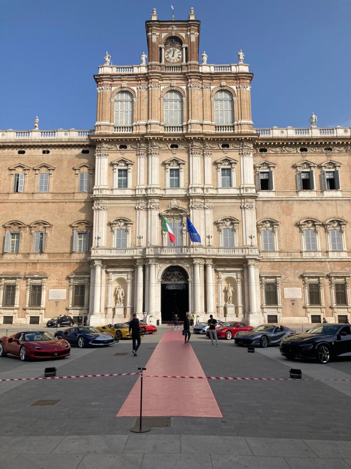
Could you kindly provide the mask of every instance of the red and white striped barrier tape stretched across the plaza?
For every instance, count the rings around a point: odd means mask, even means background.
[[[135,373],[107,373],[98,375],[74,375],[74,376],[50,376],[41,378],[8,378],[0,379],[2,381],[39,381],[39,380],[64,380],[71,378],[102,378],[105,376],[131,376],[139,375],[140,372]],[[144,378],[180,378],[180,379],[191,379],[191,380],[227,380],[227,381],[296,381],[294,378],[239,378],[236,376],[172,376],[172,375],[144,375]],[[303,378],[302,381],[351,381],[341,379],[320,379],[315,380],[313,378]]]

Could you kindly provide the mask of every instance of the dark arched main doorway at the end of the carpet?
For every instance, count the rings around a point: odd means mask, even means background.
[[[178,266],[168,267],[161,279],[161,320],[171,321],[174,314],[184,320],[189,311],[189,278]]]

